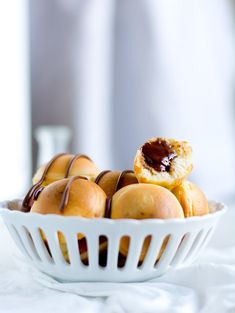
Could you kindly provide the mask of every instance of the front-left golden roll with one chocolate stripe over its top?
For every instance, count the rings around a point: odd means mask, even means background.
[[[104,191],[94,182],[75,176],[56,181],[41,189],[41,192],[36,195],[30,212],[100,218],[104,217],[105,209],[106,195]],[[45,234],[43,232],[41,234],[47,243]],[[69,261],[66,240],[61,232],[58,232],[58,238],[61,251],[65,259]],[[85,260],[87,245],[82,234],[78,235],[78,245],[81,259]],[[103,242],[100,249],[104,249],[106,245],[106,242]]]

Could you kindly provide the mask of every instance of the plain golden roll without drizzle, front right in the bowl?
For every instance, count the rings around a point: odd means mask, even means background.
[[[166,188],[152,184],[133,184],[123,187],[112,198],[112,219],[148,219],[148,218],[183,218],[184,212],[176,197]],[[140,261],[143,261],[150,244],[150,237],[145,239]],[[164,241],[158,258],[165,247]],[[120,252],[127,256],[129,238],[123,237]]]

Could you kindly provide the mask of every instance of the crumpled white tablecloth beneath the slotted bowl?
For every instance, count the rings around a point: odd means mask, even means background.
[[[0,312],[235,313],[235,207],[193,265],[139,284],[60,284],[19,261],[0,223]]]

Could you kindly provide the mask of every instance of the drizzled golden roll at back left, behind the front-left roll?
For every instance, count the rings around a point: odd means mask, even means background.
[[[47,164],[39,167],[33,177],[33,184],[43,180],[41,185],[47,186],[54,181],[78,175],[94,180],[99,172],[97,166],[88,156],[61,153]]]

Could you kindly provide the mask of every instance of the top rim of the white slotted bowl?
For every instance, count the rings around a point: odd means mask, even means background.
[[[21,200],[15,200],[15,201],[21,201]],[[54,222],[63,222],[66,221],[66,223],[68,223],[69,221],[79,221],[79,222],[85,222],[85,223],[95,223],[95,224],[99,224],[99,223],[105,223],[105,224],[109,224],[109,225],[113,225],[113,224],[120,224],[120,223],[132,223],[132,224],[136,224],[136,225],[143,225],[145,223],[147,224],[169,224],[169,223],[174,223],[174,224],[188,224],[190,222],[202,222],[202,221],[208,221],[210,219],[214,219],[214,218],[219,218],[220,216],[222,216],[223,214],[225,214],[225,212],[227,211],[227,206],[223,203],[223,202],[217,202],[217,201],[209,201],[209,207],[216,207],[216,210],[213,212],[210,212],[206,215],[203,216],[192,216],[192,217],[187,217],[187,218],[169,218],[169,219],[160,219],[160,218],[155,218],[155,219],[142,219],[142,220],[137,220],[137,219],[127,219],[127,218],[122,218],[122,219],[111,219],[111,218],[104,218],[104,217],[100,217],[100,218],[86,218],[86,217],[80,217],[80,216],[61,216],[61,215],[57,215],[57,214],[40,214],[40,213],[25,213],[25,212],[21,212],[21,211],[17,211],[17,210],[10,210],[9,208],[7,208],[7,204],[8,203],[12,203],[14,202],[14,200],[12,201],[4,201],[0,203],[0,216],[4,217],[5,215],[10,215],[10,216],[15,216],[15,217],[20,217],[25,219],[25,220],[30,220],[33,219],[35,221],[35,219],[37,219],[38,221],[54,221]]]

